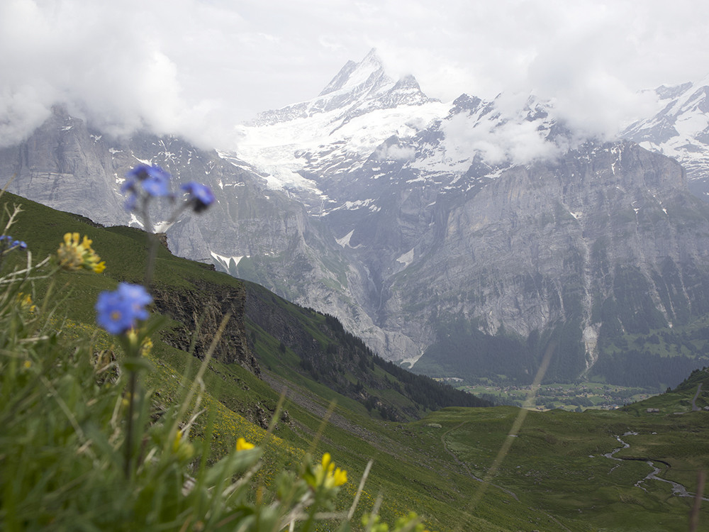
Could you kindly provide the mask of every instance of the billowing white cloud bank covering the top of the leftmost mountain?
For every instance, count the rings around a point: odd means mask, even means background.
[[[185,106],[177,66],[128,13],[102,6],[30,0],[3,4],[0,71],[7,74],[1,82],[0,114],[11,117],[4,133],[27,133],[55,103],[68,104],[116,133],[142,124],[158,131],[179,128]],[[7,141],[5,135],[0,138],[0,143]]]

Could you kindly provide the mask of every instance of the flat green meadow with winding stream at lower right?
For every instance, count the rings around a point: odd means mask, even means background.
[[[691,530],[697,502],[700,523],[709,522],[706,494],[695,501],[708,465],[709,412],[666,406],[659,414],[445,409],[425,426],[486,481],[471,494],[470,514],[492,496],[510,512],[533,509],[527,518],[538,530],[681,532]]]

